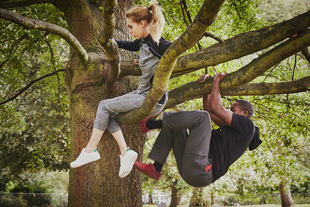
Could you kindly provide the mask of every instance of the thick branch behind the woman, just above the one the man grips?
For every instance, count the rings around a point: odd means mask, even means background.
[[[309,27],[310,11],[283,23],[277,23],[274,26],[238,34],[231,39],[226,39],[225,45],[217,43],[205,50],[180,57],[174,65],[171,77],[177,77],[201,68],[216,66],[219,63],[253,54],[292,37],[294,34],[302,32]],[[127,60],[126,63],[128,64],[129,61]],[[127,64],[126,67],[123,67],[122,61],[122,74],[136,75],[136,72],[131,74],[131,71],[129,71],[131,67],[128,67]]]

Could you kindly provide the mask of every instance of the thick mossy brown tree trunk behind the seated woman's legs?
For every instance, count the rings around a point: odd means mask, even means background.
[[[71,52],[66,86],[69,93],[71,115],[71,161],[75,160],[91,137],[98,103],[131,92],[138,86],[138,78],[121,79],[116,92],[111,94],[104,88],[109,64],[97,41],[102,26],[102,15],[98,6],[89,1],[73,2],[73,11],[65,11],[69,30],[81,42],[89,55],[88,66],[83,66]],[[78,5],[75,5],[78,4]],[[125,10],[133,1],[118,1],[115,38],[129,39],[125,33]],[[124,58],[125,53],[122,53]],[[126,58],[132,58],[126,53]],[[121,126],[127,146],[143,155],[145,137],[137,126]],[[70,168],[68,206],[142,206],[141,175],[137,170],[125,178],[118,177],[120,150],[108,130],[104,132],[98,152],[101,159],[80,168]]]

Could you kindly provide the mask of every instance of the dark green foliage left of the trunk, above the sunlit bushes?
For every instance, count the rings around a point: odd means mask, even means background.
[[[13,11],[66,27],[59,21],[61,13],[49,4]],[[30,86],[17,99],[0,106],[1,181],[6,184],[24,170],[68,168],[69,106],[64,73],[34,82],[65,68],[68,48],[55,35],[0,21],[0,102]]]

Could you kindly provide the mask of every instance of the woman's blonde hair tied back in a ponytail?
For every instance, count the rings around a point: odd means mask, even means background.
[[[126,12],[126,17],[131,17],[133,21],[147,21],[149,23],[149,33],[152,39],[158,44],[161,39],[161,33],[163,32],[163,26],[165,25],[165,17],[163,17],[163,8],[158,5],[157,1],[154,1],[149,7],[137,5]]]

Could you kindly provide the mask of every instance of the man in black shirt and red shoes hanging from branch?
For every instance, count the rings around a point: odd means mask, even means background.
[[[223,107],[219,83],[227,73],[219,72],[213,78],[212,92],[203,97],[206,111],[165,112],[162,121],[147,117],[140,121],[146,132],[162,128],[149,157],[154,164],[136,161],[134,166],[153,179],[162,175],[161,168],[173,149],[176,165],[185,182],[194,187],[208,186],[225,175],[228,168],[244,154],[262,143],[259,129],[250,117],[253,106],[249,101],[237,100],[230,110]],[[199,78],[203,82],[210,75]],[[219,128],[211,130],[211,120]]]

